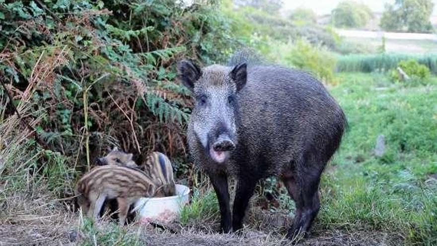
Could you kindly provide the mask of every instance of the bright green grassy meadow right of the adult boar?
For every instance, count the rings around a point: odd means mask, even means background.
[[[350,128],[322,181],[322,227],[387,231],[437,243],[437,82],[404,86],[375,74],[340,74],[332,94]],[[384,135],[386,154],[372,155]],[[427,181],[428,180],[428,181]]]

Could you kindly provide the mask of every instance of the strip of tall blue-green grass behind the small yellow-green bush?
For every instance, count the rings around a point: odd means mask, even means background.
[[[437,74],[436,55],[408,55],[397,53],[384,54],[355,54],[339,56],[337,61],[338,72],[386,72],[395,69],[402,60],[415,59],[419,63],[426,65],[430,71]]]

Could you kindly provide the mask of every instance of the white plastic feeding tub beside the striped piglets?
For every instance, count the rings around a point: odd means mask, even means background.
[[[182,207],[188,203],[190,188],[176,184],[176,195],[166,197],[141,198],[135,203],[140,222],[169,222],[178,217]]]

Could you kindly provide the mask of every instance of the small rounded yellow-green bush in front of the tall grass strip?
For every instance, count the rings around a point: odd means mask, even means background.
[[[422,64],[419,64],[414,59],[403,60],[398,63],[398,67],[402,69],[412,80],[422,81],[430,77],[430,69]],[[395,81],[401,81],[401,75],[396,69],[390,72],[390,78]]]

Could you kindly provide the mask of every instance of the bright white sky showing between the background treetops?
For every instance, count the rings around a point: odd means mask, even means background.
[[[311,8],[316,14],[330,13],[333,8],[341,0],[283,0],[285,9],[294,9],[296,7]],[[360,0],[357,0],[360,1]],[[365,0],[364,2],[371,10],[375,12],[382,12],[384,10],[384,3],[394,3],[395,0]],[[433,0],[435,7],[434,13],[437,14],[437,0]]]

